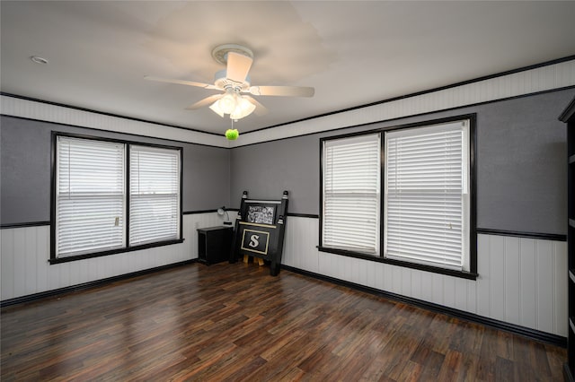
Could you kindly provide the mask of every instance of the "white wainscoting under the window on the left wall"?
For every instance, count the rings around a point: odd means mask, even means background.
[[[50,227],[0,230],[0,298],[52,291],[198,258],[198,228],[222,224],[217,213],[183,216],[181,244],[49,265]]]

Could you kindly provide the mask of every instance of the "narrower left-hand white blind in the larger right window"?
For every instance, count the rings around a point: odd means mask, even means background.
[[[322,246],[379,254],[379,134],[323,142]]]

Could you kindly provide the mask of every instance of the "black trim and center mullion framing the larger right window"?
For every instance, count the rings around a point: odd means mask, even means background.
[[[459,271],[453,269],[442,268],[433,265],[422,265],[417,263],[410,263],[407,261],[396,260],[392,258],[386,258],[384,256],[384,251],[380,251],[379,256],[373,256],[369,254],[363,254],[359,252],[349,251],[349,250],[342,250],[338,248],[332,247],[323,247],[322,242],[322,231],[323,231],[323,142],[329,141],[332,139],[341,139],[341,138],[349,138],[357,135],[369,135],[375,133],[382,134],[382,143],[381,143],[381,177],[380,181],[382,182],[381,189],[384,190],[385,185],[383,182],[385,181],[385,132],[392,131],[392,130],[400,130],[406,128],[416,128],[416,127],[425,127],[425,126],[433,126],[433,125],[440,125],[450,122],[456,122],[459,120],[467,119],[469,120],[469,189],[470,189],[470,197],[469,197],[469,271]],[[440,273],[446,274],[450,276],[455,276],[459,278],[464,278],[468,280],[476,280],[479,274],[477,273],[477,168],[476,168],[476,123],[477,123],[477,113],[471,114],[464,114],[464,115],[457,115],[453,117],[444,117],[444,118],[437,118],[437,119],[430,119],[421,122],[414,122],[410,124],[404,125],[397,125],[397,126],[384,126],[384,127],[377,127],[374,129],[368,129],[361,132],[350,133],[345,135],[332,135],[320,138],[319,143],[319,157],[320,157],[320,213],[319,213],[319,239],[317,249],[321,252],[332,253],[335,255],[341,256],[349,256],[354,258],[360,258],[363,260],[374,261],[376,263],[385,263],[390,265],[398,265],[403,266],[406,268],[417,269],[420,271],[426,271],[431,273]],[[383,192],[383,191],[382,191]],[[380,248],[384,248],[385,238],[384,238],[384,219],[385,216],[385,203],[380,204]]]

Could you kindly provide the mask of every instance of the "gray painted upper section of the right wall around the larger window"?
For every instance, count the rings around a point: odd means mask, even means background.
[[[289,213],[318,214],[320,137],[476,113],[477,227],[565,234],[566,127],[557,117],[574,94],[553,91],[234,148],[232,205],[239,206],[243,190],[252,197],[279,198],[287,189]]]

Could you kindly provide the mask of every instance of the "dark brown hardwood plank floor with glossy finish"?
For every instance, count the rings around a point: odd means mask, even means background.
[[[2,309],[3,381],[562,380],[564,349],[282,270],[185,265]]]

